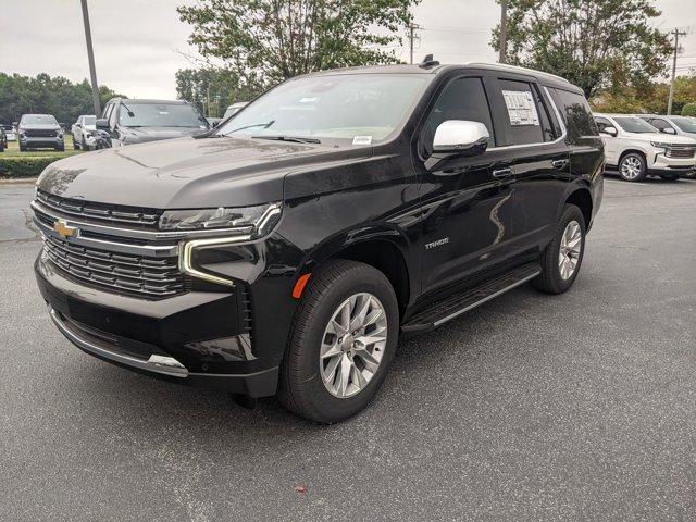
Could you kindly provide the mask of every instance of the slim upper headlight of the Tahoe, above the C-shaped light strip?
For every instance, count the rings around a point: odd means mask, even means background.
[[[163,231],[200,231],[237,228],[251,237],[261,237],[273,229],[281,219],[281,203],[194,210],[166,210],[160,217]]]

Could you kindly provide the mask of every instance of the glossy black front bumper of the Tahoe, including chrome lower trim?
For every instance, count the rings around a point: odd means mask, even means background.
[[[83,351],[175,383],[263,397],[276,391],[296,306],[293,271],[266,271],[274,270],[269,251],[278,251],[281,240],[268,241],[270,248],[265,241],[256,245],[259,254],[248,250],[244,262],[229,263],[228,251],[216,254],[227,261],[222,266],[226,275],[248,276],[249,283],[192,285],[165,299],[88,285],[55,266],[45,251],[35,272],[51,319]],[[284,266],[290,266],[287,259]]]

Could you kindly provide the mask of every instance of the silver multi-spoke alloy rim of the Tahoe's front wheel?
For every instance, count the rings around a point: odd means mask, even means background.
[[[348,398],[372,381],[387,344],[387,316],[372,294],[350,296],[334,311],[324,330],[319,369],[334,397]]]

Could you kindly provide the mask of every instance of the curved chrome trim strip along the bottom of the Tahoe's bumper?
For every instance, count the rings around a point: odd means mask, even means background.
[[[84,351],[87,351],[95,356],[103,357],[104,359],[109,359],[114,362],[126,364],[128,366],[138,368],[140,370],[162,373],[164,375],[173,375],[175,377],[188,376],[188,370],[186,370],[186,368],[173,357],[152,355],[146,361],[136,357],[127,356],[125,353],[120,353],[111,347],[107,347],[104,345],[96,343],[95,340],[85,338],[85,336],[80,334],[77,328],[63,321],[58,311],[55,311],[55,309],[50,306],[49,314],[51,315],[51,320],[53,320],[53,323],[55,324],[58,330],[60,330],[61,334],[63,334],[67,338],[67,340],[70,340]]]

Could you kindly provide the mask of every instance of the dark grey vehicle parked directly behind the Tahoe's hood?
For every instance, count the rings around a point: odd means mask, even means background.
[[[112,147],[196,136],[210,129],[208,120],[187,101],[114,98],[97,120]],[[105,141],[105,140],[104,140]]]

